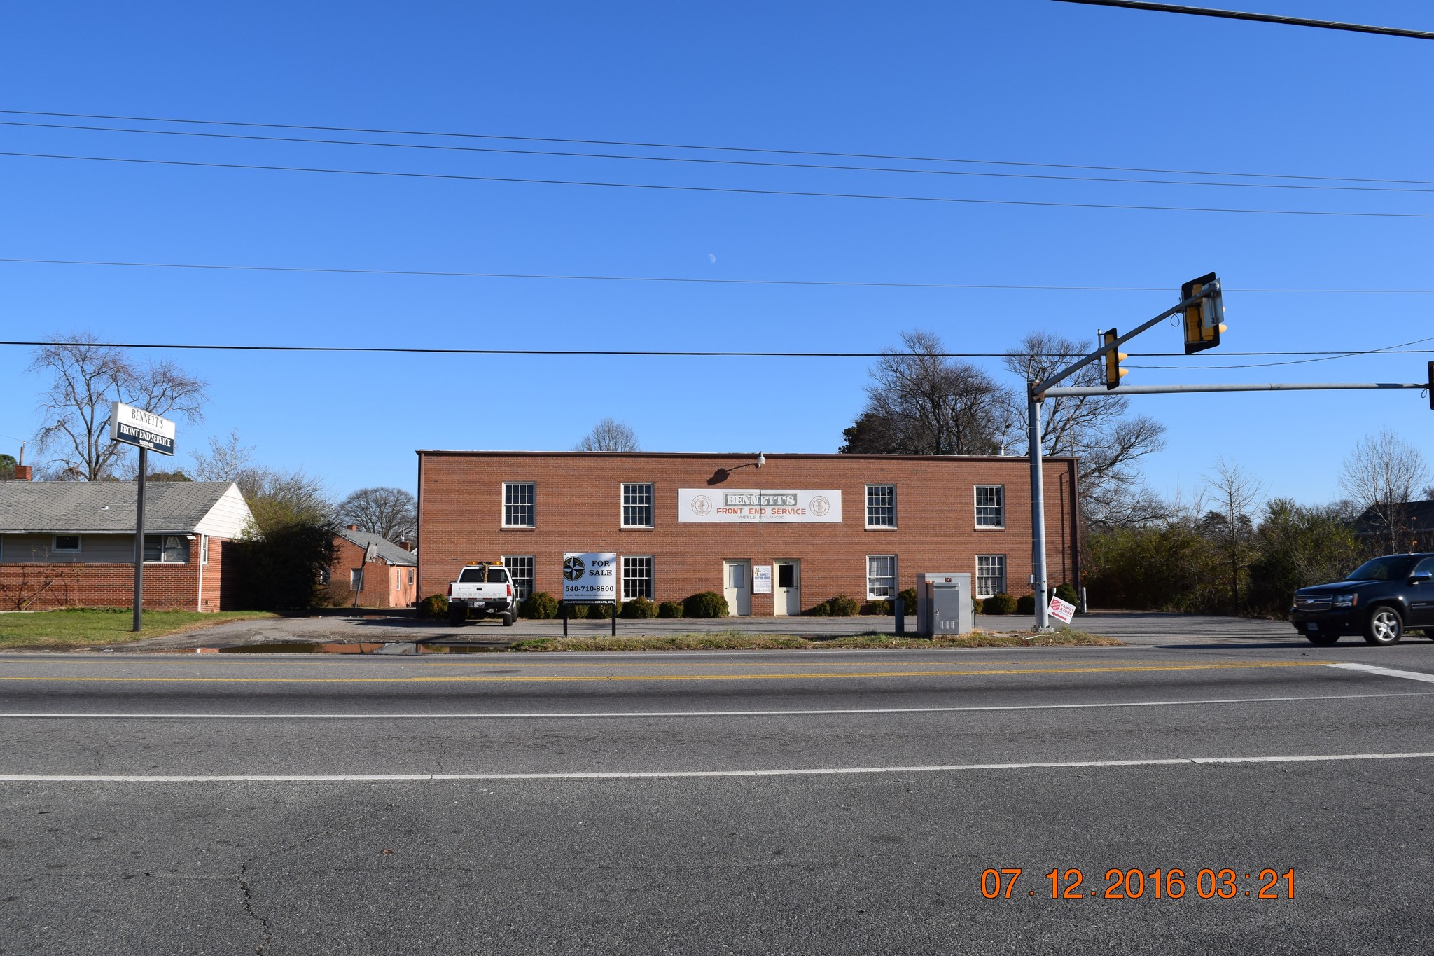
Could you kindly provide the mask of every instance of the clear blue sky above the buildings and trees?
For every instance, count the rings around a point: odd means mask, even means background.
[[[1434,10],[1417,0],[1242,6],[1434,30]],[[3,109],[1415,181],[1434,179],[1434,129],[1421,119],[1434,112],[1431,62],[1434,43],[1421,40],[1048,0],[50,3],[0,13]],[[1434,198],[1418,192],[700,166],[4,125],[0,143],[4,152],[479,176],[1434,214]],[[1230,331],[1220,351],[1378,348],[1434,335],[1428,294],[1242,291],[1434,290],[1434,218],[759,196],[17,156],[0,156],[0,258],[1169,290],[0,264],[6,340],[89,330],[122,341],[875,351],[926,328],[952,351],[999,351],[1034,330],[1093,341],[1097,328],[1129,328],[1210,269],[1226,285]],[[1130,351],[1180,351],[1179,334],[1153,330]],[[264,463],[305,467],[338,494],[412,489],[414,449],[566,449],[602,416],[628,421],[652,450],[830,451],[862,404],[868,364],[168,357],[211,383],[206,417],[182,429],[181,447],[235,429]],[[1217,371],[1209,367],[1260,360],[1206,353],[1133,358],[1126,381],[1415,381],[1425,358]],[[27,361],[26,350],[0,347],[3,436],[26,437],[37,424],[42,383],[24,374]],[[1134,401],[1170,429],[1169,449],[1146,467],[1163,494],[1197,489],[1225,454],[1273,493],[1328,500],[1338,496],[1341,457],[1367,431],[1394,426],[1421,447],[1434,439],[1434,413],[1418,393]],[[14,444],[0,439],[3,450]]]

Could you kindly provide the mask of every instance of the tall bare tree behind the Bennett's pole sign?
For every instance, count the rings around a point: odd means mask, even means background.
[[[122,348],[100,345],[90,333],[56,335],[59,344],[34,350],[30,371],[49,377],[39,411],[49,424],[36,431],[36,449],[52,464],[95,482],[126,454],[109,441],[110,403],[123,401],[158,416],[202,417],[205,383],[171,361],[138,363]]]

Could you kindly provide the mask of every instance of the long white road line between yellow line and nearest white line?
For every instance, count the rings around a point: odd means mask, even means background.
[[[1338,665],[1334,665],[1338,666]],[[1431,678],[1434,679],[1434,678]],[[840,717],[843,714],[978,714],[988,711],[1078,711],[1114,707],[1200,707],[1206,704],[1286,704],[1299,701],[1361,701],[1385,697],[1434,697],[1434,691],[1391,694],[1314,694],[1306,697],[1232,697],[1200,701],[1130,701],[1103,704],[997,704],[989,707],[872,707],[820,711],[579,711],[478,712],[478,714],[46,714],[40,711],[0,712],[0,720],[145,720],[145,721],[496,721],[496,720],[594,720],[632,717]]]

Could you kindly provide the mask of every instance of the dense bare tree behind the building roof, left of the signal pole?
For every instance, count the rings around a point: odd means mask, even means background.
[[[1010,397],[971,363],[945,357],[926,331],[902,335],[872,365],[866,407],[843,433],[846,453],[994,454],[1010,430]]]

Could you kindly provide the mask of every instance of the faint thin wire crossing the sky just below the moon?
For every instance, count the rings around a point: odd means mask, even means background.
[[[855,288],[951,288],[951,290],[1012,290],[1012,291],[1055,291],[1055,292],[1170,292],[1163,285],[1031,285],[989,282],[856,282],[832,279],[723,279],[681,275],[559,275],[554,272],[445,272],[433,269],[338,269],[300,265],[219,265],[208,262],[122,262],[110,259],[22,259],[0,257],[0,262],[29,265],[109,265],[152,269],[221,269],[237,272],[315,272],[331,275],[416,275],[439,278],[485,278],[485,279],[575,279],[584,282],[695,282],[703,285],[816,285]],[[1226,292],[1279,292],[1279,294],[1339,294],[1339,295],[1434,295],[1434,288],[1235,288]]]

